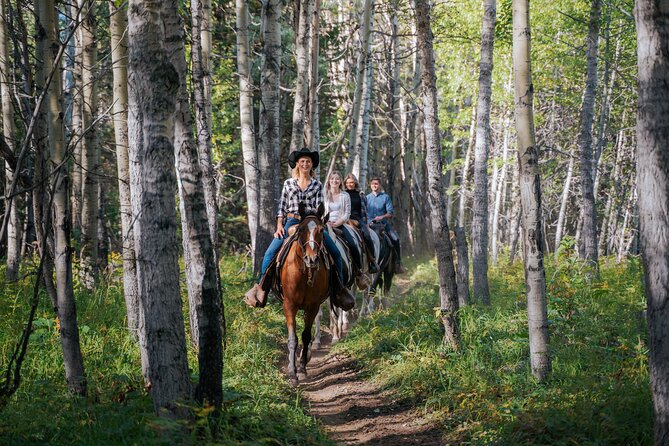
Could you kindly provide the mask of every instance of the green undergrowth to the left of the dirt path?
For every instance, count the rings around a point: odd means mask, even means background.
[[[119,265],[120,259],[115,263]],[[243,266],[237,258],[227,258],[221,264],[227,348],[225,404],[220,416],[214,418],[208,408],[198,407],[192,407],[194,416],[189,421],[155,416],[143,387],[137,345],[124,328],[119,267],[92,293],[75,285],[89,388],[86,398],[74,397],[65,388],[57,321],[48,298],[41,296],[22,384],[0,411],[0,444],[331,444],[318,423],[305,413],[299,396],[278,367],[285,356],[285,323],[279,306],[252,310],[241,302],[249,286]],[[4,271],[0,270],[0,277]],[[32,281],[33,277],[27,276],[10,285],[0,279],[3,373],[27,319]],[[183,277],[181,281],[182,295],[186,296]],[[197,361],[192,349],[189,362],[195,382]]]

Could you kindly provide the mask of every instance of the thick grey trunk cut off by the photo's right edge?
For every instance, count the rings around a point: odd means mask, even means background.
[[[638,0],[635,6],[639,99],[637,188],[644,263],[650,384],[655,445],[669,443],[669,8]]]

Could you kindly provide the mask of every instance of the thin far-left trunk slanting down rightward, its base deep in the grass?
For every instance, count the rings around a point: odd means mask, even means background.
[[[59,70],[57,64],[60,63],[54,57],[53,52],[58,49],[56,9],[53,0],[38,0],[35,3],[38,16],[36,25],[39,29],[38,35],[44,36],[44,40],[39,43],[38,47],[44,61],[44,72],[50,73],[52,70]],[[43,79],[40,81],[46,83]],[[72,249],[70,246],[69,197],[67,195],[69,177],[65,153],[61,94],[62,78],[57,74],[53,76],[48,87],[48,134],[54,194],[56,313],[60,321],[60,341],[63,347],[65,379],[68,388],[73,393],[85,395],[86,375],[79,345],[77,310],[72,288]]]

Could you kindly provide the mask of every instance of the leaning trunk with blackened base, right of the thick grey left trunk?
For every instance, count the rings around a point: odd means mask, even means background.
[[[193,138],[193,121],[186,78],[185,36],[176,2],[163,3],[162,17],[165,25],[165,50],[170,55],[172,65],[179,76],[174,147],[190,328],[200,367],[195,399],[200,403],[206,401],[220,408],[223,400],[222,296],[216,253],[207,222],[202,171]]]

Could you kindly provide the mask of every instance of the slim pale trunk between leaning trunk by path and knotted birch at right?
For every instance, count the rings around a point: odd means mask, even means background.
[[[474,217],[472,219],[472,267],[474,300],[490,305],[488,288],[488,154],[490,153],[490,101],[492,96],[493,49],[495,43],[496,0],[483,2],[479,96],[474,151]]]

